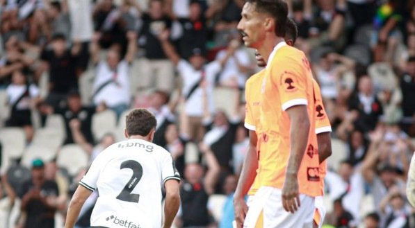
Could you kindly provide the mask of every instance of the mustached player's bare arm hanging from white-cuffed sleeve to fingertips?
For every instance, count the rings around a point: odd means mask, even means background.
[[[282,187],[282,205],[286,211],[295,213],[300,207],[300,194],[298,191],[298,169],[307,147],[310,120],[306,105],[296,105],[286,110],[291,122],[290,156]]]

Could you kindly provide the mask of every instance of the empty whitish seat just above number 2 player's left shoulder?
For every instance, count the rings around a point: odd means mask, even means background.
[[[99,141],[104,134],[113,132],[116,125],[117,117],[111,109],[94,114],[92,116],[92,134],[95,141]]]

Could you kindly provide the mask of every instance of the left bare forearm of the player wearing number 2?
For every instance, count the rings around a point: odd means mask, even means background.
[[[79,211],[81,211],[83,203],[85,203],[86,199],[88,199],[91,193],[92,191],[82,185],[79,185],[78,188],[76,188],[74,196],[72,197],[72,200],[67,209],[65,228],[74,227],[75,222],[79,216]]]

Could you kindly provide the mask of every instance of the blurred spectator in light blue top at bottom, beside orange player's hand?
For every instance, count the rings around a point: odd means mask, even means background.
[[[235,175],[228,175],[223,184],[223,192],[227,196],[222,210],[222,219],[219,222],[219,228],[232,228],[234,218],[234,193],[238,184],[238,178]]]

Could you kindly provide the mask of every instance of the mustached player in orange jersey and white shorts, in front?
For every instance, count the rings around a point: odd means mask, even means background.
[[[304,53],[284,42],[284,1],[246,1],[238,29],[268,64],[261,85],[259,190],[244,227],[312,227],[320,195],[314,85]],[[291,213],[290,213],[291,212]]]

